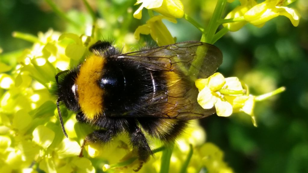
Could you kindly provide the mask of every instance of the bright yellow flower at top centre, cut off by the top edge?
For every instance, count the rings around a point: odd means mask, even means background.
[[[141,19],[142,9],[154,10],[168,18],[182,18],[184,6],[180,0],[137,0],[135,5],[141,4],[134,13],[134,18]]]

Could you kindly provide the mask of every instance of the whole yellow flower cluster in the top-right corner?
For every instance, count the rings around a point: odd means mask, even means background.
[[[228,2],[233,2],[228,1]],[[230,31],[241,29],[246,23],[262,27],[265,22],[277,16],[286,16],[294,26],[298,26],[300,15],[292,8],[286,7],[291,1],[265,0],[257,4],[255,0],[240,0],[241,5],[229,12],[225,19],[238,19],[238,22],[225,23],[224,27]]]

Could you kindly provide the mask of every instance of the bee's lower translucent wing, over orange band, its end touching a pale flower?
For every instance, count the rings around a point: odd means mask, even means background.
[[[178,81],[168,92],[156,92],[132,112],[133,116],[157,117],[166,119],[200,119],[216,113],[215,107],[203,109],[197,103],[198,90],[193,86],[183,86],[185,82]]]

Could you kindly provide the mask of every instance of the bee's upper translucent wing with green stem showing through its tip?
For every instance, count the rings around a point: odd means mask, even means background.
[[[149,69],[173,71],[184,76],[198,73],[197,78],[209,77],[222,63],[222,53],[216,46],[195,41],[121,54],[117,58],[139,61]]]

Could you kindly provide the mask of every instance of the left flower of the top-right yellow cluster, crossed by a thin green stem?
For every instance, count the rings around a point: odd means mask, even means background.
[[[237,6],[234,10],[227,14],[225,19],[242,17],[251,7],[257,4],[254,0],[240,0],[240,2],[241,5]],[[223,26],[234,32],[241,29],[244,25],[246,25],[246,23],[247,21],[231,22],[225,23]]]

